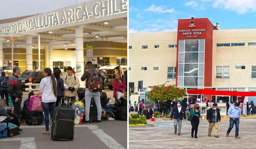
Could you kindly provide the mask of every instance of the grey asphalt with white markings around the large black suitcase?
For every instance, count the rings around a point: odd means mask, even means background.
[[[44,125],[22,125],[21,135],[0,139],[0,149],[124,149],[127,148],[127,122],[76,125],[73,141],[52,141],[43,135]]]

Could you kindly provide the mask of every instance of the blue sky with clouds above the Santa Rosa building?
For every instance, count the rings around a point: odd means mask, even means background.
[[[129,0],[129,32],[177,31],[178,19],[208,18],[219,29],[256,28],[256,0]]]

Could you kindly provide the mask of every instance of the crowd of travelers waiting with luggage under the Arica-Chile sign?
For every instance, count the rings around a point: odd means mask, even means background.
[[[5,78],[5,73],[1,73],[0,84],[3,80],[8,79],[8,87],[4,88],[0,85],[0,116],[8,116],[6,113],[6,106],[8,105],[9,96],[12,100],[14,106],[14,114],[17,114],[18,118],[21,117],[21,102],[22,102],[22,87],[20,84],[20,80],[18,76],[21,73],[21,69],[18,66],[13,68],[13,73],[10,77]],[[30,96],[34,95],[34,92],[30,92],[28,98],[24,101],[23,106],[23,117],[26,120],[26,123],[29,125],[38,125],[41,123],[45,123],[45,131],[43,131],[44,135],[50,135],[49,131],[49,119],[53,118],[54,108],[56,106],[60,106],[63,104],[63,98],[67,99],[67,102],[73,101],[76,99],[77,93],[76,90],[80,87],[80,80],[75,75],[74,69],[72,67],[67,67],[66,76],[61,77],[61,71],[58,67],[53,69],[53,72],[50,68],[44,69],[44,78],[40,82],[39,94],[42,94],[42,107],[44,111],[44,115],[42,112],[30,111],[28,110],[28,106],[30,103]],[[106,93],[104,92],[104,80],[105,80],[106,71],[98,71],[92,65],[91,61],[86,63],[86,70],[81,77],[81,81],[86,81],[85,88],[85,122],[89,124],[89,114],[90,114],[90,103],[92,97],[94,98],[96,108],[97,108],[97,122],[101,123],[102,116],[102,108],[108,109],[110,111],[113,110],[113,107],[109,105],[109,98],[107,98]],[[92,91],[89,89],[90,84],[89,80],[92,75],[96,75],[101,78],[101,88],[97,91]],[[119,98],[124,98],[127,101],[126,94],[126,83],[127,83],[127,75],[124,75],[124,78],[121,77],[120,73],[116,73],[116,78],[113,80],[113,88],[114,93],[113,97],[116,99],[116,102],[121,104],[122,101]],[[5,96],[5,99],[3,99]],[[117,104],[118,104],[117,103]],[[116,103],[115,103],[116,104]],[[127,103],[123,103],[127,106]],[[49,118],[50,115],[50,118]],[[122,117],[122,116],[120,116]],[[11,120],[10,116],[8,116],[8,120]],[[127,120],[127,118],[126,118]],[[6,129],[8,124],[6,122],[0,122],[0,132]],[[22,129],[20,129],[22,132]]]

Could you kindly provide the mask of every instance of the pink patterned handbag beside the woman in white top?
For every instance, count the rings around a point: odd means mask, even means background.
[[[39,94],[40,93],[38,93],[36,96],[30,97],[30,102],[28,106],[28,109],[30,111],[39,111],[39,112],[44,111],[42,106],[42,96],[40,96]]]

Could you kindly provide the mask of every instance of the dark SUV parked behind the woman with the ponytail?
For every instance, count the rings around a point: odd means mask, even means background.
[[[29,87],[29,86],[26,86],[25,83],[40,83],[42,78],[44,78],[44,71],[38,71],[38,70],[26,70],[23,73],[21,73],[19,76],[20,84],[23,90]],[[39,89],[39,85],[32,86],[32,88]]]

